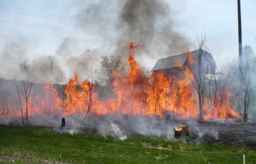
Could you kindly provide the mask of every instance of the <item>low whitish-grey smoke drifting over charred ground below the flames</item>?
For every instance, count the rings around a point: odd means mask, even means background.
[[[61,117],[66,118],[66,127],[61,127]],[[21,124],[21,118],[17,118]],[[13,118],[7,120],[0,118],[2,124],[12,124]],[[33,116],[29,118],[29,123],[36,126],[55,127],[57,132],[64,133],[99,133],[103,136],[113,136],[120,140],[125,140],[128,136],[144,135],[154,137],[166,137],[169,140],[176,141],[174,137],[174,127],[178,125],[188,125],[188,130],[194,137],[182,137],[181,141],[188,142],[190,138],[195,142],[202,142],[205,137],[207,140],[219,140],[220,123],[211,123],[203,125],[195,120],[165,121],[164,119],[147,116],[129,116],[124,120],[122,115],[104,115],[100,117],[87,117],[85,122],[78,120],[76,116]]]

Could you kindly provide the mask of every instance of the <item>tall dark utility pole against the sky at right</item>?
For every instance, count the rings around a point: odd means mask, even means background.
[[[243,68],[243,57],[242,57],[242,25],[241,25],[241,7],[240,0],[237,1],[238,8],[238,45],[239,45],[239,68]]]

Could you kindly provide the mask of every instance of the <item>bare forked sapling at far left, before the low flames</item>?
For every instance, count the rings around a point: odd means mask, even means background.
[[[19,96],[19,102],[21,104],[21,109],[22,109],[22,101],[21,101],[21,96],[24,98],[26,102],[26,123],[28,124],[28,101],[29,101],[29,96],[31,94],[31,89],[35,83],[37,78],[35,78],[33,81],[29,81],[28,76],[25,81],[22,80],[22,88],[19,88],[18,85],[15,83],[18,96]],[[23,119],[23,110],[22,110],[22,119]],[[23,121],[24,123],[24,121]]]

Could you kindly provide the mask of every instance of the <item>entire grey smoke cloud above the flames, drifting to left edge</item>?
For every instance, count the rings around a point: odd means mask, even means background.
[[[146,63],[147,58],[157,59],[188,51],[189,42],[175,31],[178,28],[173,17],[175,11],[164,1],[100,0],[79,1],[73,5],[77,6],[77,12],[71,16],[76,22],[74,26],[82,29],[87,39],[66,34],[55,54],[50,55],[30,52],[31,47],[13,41],[0,52],[4,68],[1,73],[17,79],[37,76],[41,82],[61,82],[61,77],[71,77],[73,72],[87,78],[91,69],[97,68],[100,55],[127,57],[128,43],[132,40],[140,47],[139,64]],[[85,41],[87,46],[82,43]]]

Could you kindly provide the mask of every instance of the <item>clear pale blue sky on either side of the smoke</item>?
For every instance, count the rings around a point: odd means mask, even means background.
[[[172,28],[188,41],[188,50],[193,50],[196,47],[196,33],[200,34],[205,31],[206,44],[215,58],[231,59],[238,56],[237,1],[166,0],[164,2],[171,10],[168,14],[171,14]],[[98,5],[102,3],[102,7],[96,7],[101,15],[92,11],[87,18],[82,11],[84,9],[88,11],[88,8],[90,11],[91,7],[95,7],[92,5],[93,3]],[[121,12],[122,7],[120,6],[122,3],[117,0],[0,0],[0,53],[5,51],[8,44],[17,43],[26,49],[24,55],[31,60],[42,54],[57,56],[60,45],[65,39],[72,44],[68,48],[70,52],[68,55],[76,56],[91,49],[94,49],[95,53],[99,55],[112,53],[116,48],[116,45],[111,44],[112,39],[120,39],[120,33],[115,33],[116,26],[119,26],[119,24],[115,24],[115,19]],[[241,0],[241,10],[243,45],[250,44],[256,51],[256,1]],[[100,17],[100,22],[97,21],[98,17]],[[86,28],[83,28],[85,25],[81,26],[79,23],[80,19],[84,18],[89,20]],[[158,22],[156,29],[164,23],[166,22]],[[102,24],[105,25],[102,26]],[[101,31],[104,33],[102,34]],[[184,47],[186,46],[184,45]],[[157,49],[157,46],[155,50],[154,53],[166,53],[160,51],[160,48]],[[137,54],[136,58],[139,59],[141,65],[152,68],[157,58],[173,53],[155,54],[154,56]],[[65,60],[59,62],[61,67],[66,64]],[[97,59],[92,62],[97,62]],[[2,68],[1,73],[4,73],[4,70]],[[63,71],[70,71],[66,73],[67,76],[70,76],[74,70],[63,68]]]

